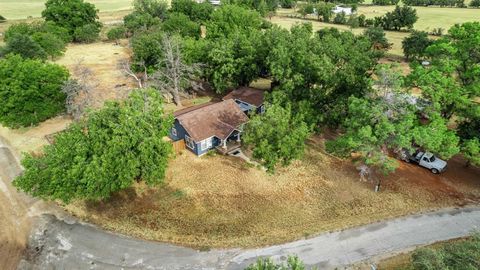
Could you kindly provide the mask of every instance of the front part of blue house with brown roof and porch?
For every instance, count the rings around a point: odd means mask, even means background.
[[[189,107],[173,114],[173,141],[185,140],[186,148],[200,156],[211,149],[226,154],[240,148],[247,115],[233,99]]]

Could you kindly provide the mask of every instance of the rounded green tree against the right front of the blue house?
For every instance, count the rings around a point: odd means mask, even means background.
[[[294,114],[290,105],[267,105],[266,112],[247,123],[243,142],[253,146],[253,157],[273,172],[303,156],[309,128],[303,116]]]

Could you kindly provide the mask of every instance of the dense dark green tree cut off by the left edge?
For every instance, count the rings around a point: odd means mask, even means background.
[[[0,59],[0,122],[13,128],[30,126],[62,112],[61,88],[68,76],[55,64],[19,55]]]

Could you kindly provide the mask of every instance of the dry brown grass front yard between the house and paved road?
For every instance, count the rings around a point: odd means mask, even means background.
[[[163,187],[138,184],[108,202],[76,202],[66,208],[108,230],[146,239],[194,247],[251,247],[463,200],[449,195],[447,187],[416,185],[415,178],[402,176],[404,168],[385,181],[385,191],[374,193],[349,162],[323,154],[321,144],[318,138],[309,142],[302,161],[274,175],[235,158],[198,158],[184,152],[170,162]]]

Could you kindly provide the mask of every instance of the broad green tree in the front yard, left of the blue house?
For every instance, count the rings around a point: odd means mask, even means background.
[[[133,91],[122,102],[107,102],[55,137],[41,155],[27,154],[25,171],[13,184],[35,197],[98,200],[135,181],[163,181],[171,144],[163,139],[172,118],[157,91]]]

